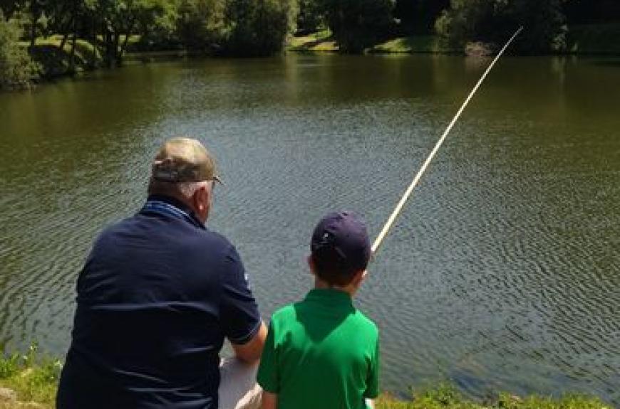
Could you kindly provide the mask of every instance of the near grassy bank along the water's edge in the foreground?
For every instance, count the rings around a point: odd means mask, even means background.
[[[61,372],[61,362],[41,358],[36,347],[26,354],[0,356],[0,409],[52,409]],[[563,398],[529,396],[517,398],[500,394],[486,403],[467,400],[452,386],[438,386],[415,395],[412,400],[398,400],[381,395],[377,409],[613,409],[600,400],[581,395]]]

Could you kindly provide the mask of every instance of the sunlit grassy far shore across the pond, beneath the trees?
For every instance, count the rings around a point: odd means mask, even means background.
[[[26,47],[26,43],[22,43]],[[62,48],[61,48],[62,46]],[[292,36],[286,44],[285,52],[289,53],[339,53],[339,47],[328,30],[304,33]],[[390,38],[366,48],[365,54],[408,55],[488,55],[492,53],[492,45],[471,43],[467,47],[449,46],[439,36],[417,35]],[[71,44],[62,41],[62,36],[39,38],[32,55],[40,68],[41,74],[37,82],[44,83],[56,78],[73,76],[102,66],[100,55],[91,43],[79,39],[76,51],[71,57]],[[182,48],[159,49],[149,48],[140,43],[139,36],[128,38],[127,51],[123,55],[123,63],[150,63],[160,60],[177,58],[210,57],[210,51],[187,51]],[[620,24],[595,24],[577,26],[569,35],[569,47],[557,56],[620,56]]]

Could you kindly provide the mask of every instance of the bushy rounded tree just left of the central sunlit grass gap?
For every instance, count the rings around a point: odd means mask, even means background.
[[[228,0],[225,48],[232,55],[273,55],[294,31],[294,0]]]

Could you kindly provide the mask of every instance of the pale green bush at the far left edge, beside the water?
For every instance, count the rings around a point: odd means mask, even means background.
[[[36,77],[36,65],[32,63],[25,48],[19,46],[21,27],[7,21],[0,11],[0,87],[29,87]]]

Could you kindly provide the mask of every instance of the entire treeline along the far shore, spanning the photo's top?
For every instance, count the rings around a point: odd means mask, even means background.
[[[343,53],[429,33],[492,47],[524,25],[513,50],[549,53],[569,46],[573,25],[618,21],[619,0],[0,0],[0,87],[36,75],[28,53],[51,35],[71,71],[80,43],[91,48],[83,65],[94,67],[119,65],[128,46],[273,55],[292,33],[319,29]]]

